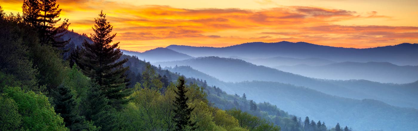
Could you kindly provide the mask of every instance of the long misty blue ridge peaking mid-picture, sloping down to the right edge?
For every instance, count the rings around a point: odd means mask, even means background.
[[[257,66],[241,59],[220,57],[199,57],[173,62],[156,62],[155,65],[176,67],[191,66],[226,82],[272,81],[308,87],[329,95],[354,99],[375,99],[390,105],[418,108],[418,93],[404,92],[401,85],[371,82],[367,80],[322,80],[283,72],[277,69]],[[408,89],[414,88],[408,87]],[[228,89],[225,89],[228,90]],[[232,90],[232,89],[230,89]],[[412,90],[412,89],[411,89]]]

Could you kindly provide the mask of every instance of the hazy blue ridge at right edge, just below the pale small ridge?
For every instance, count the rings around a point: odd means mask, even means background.
[[[389,62],[340,62],[322,66],[300,64],[273,68],[320,79],[364,79],[383,83],[410,83],[418,80],[418,66],[398,66]]]

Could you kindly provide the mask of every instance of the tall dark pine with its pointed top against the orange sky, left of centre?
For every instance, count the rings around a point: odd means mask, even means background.
[[[128,59],[117,60],[122,56],[118,44],[112,43],[116,34],[111,35],[112,25],[107,22],[106,15],[103,12],[99,14],[100,18],[94,19],[94,34],[91,34],[93,43],[89,44],[86,40],[83,42],[84,49],[80,48],[79,59],[76,64],[82,69],[82,72],[92,78],[94,82],[100,85],[100,90],[104,96],[109,98],[110,103],[115,108],[121,108],[121,105],[127,103],[126,96],[130,95],[127,89],[129,80],[125,72],[129,67],[123,67]]]

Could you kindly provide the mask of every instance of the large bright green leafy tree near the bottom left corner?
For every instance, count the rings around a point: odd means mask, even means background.
[[[8,97],[15,100],[22,116],[22,127],[31,131],[65,131],[63,118],[54,112],[45,95],[24,92],[19,87],[7,87]]]

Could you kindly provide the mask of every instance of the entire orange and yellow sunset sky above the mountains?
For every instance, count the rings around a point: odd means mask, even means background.
[[[23,0],[0,0],[20,13]],[[371,48],[418,43],[418,0],[57,0],[69,30],[93,33],[101,10],[120,49],[304,41]]]

